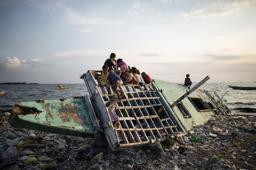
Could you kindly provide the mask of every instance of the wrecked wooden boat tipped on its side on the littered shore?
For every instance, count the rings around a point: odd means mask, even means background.
[[[189,91],[180,84],[154,79],[151,84],[121,85],[125,95],[103,94],[100,74],[88,70],[81,77],[88,95],[65,100],[16,103],[12,126],[73,136],[106,136],[113,150],[151,144],[161,149],[167,136],[187,134],[195,125],[231,111],[216,91],[198,89],[205,77]],[[111,89],[112,92],[113,89]],[[108,108],[117,103],[120,118],[114,128]]]

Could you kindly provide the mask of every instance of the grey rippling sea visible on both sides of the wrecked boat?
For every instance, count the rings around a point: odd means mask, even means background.
[[[53,100],[85,96],[88,90],[85,84],[64,84],[67,89],[56,89],[58,84],[12,84],[0,85],[0,110],[17,108],[15,103],[22,101],[37,101],[39,99]],[[192,83],[195,86],[196,83]],[[199,89],[216,91],[226,105],[234,113],[256,114],[256,90],[234,90],[230,86],[256,87],[256,83],[204,83]]]

